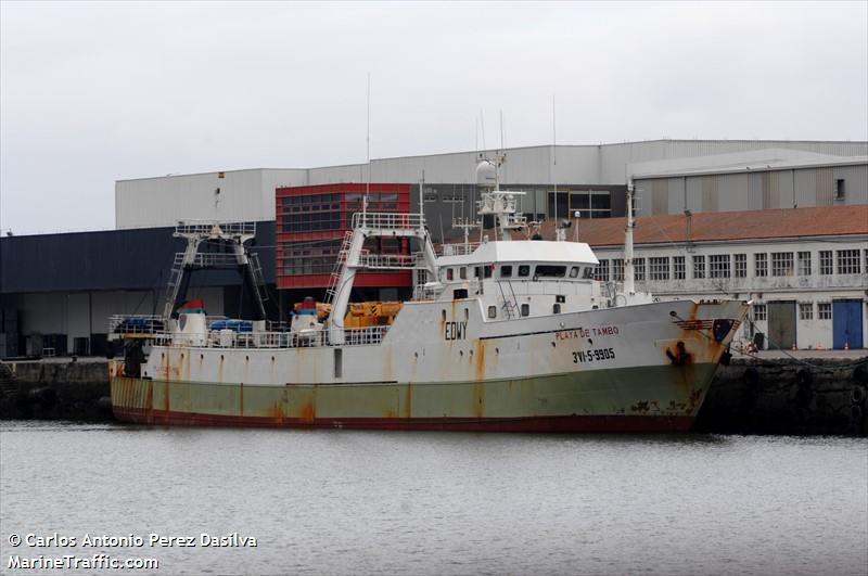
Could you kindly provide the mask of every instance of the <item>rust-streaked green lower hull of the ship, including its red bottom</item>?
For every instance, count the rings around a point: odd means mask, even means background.
[[[156,425],[686,432],[716,364],[451,383],[252,386],[112,379],[115,417]]]

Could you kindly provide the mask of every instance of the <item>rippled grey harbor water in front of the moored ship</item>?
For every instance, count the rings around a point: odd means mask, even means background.
[[[858,575],[868,440],[3,421],[0,509],[3,574]]]

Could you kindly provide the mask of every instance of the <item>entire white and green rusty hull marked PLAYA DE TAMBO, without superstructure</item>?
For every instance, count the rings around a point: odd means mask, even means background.
[[[159,425],[682,432],[745,309],[673,302],[487,322],[471,300],[410,304],[371,345],[154,346],[141,377],[111,364],[112,404],[120,421]]]

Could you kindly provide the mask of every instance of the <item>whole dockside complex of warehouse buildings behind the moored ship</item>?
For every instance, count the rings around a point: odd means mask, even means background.
[[[0,357],[106,353],[107,317],[153,313],[165,298],[181,220],[255,222],[267,316],[322,297],[353,214],[422,209],[435,242],[472,223],[475,167],[494,151],[307,169],[245,169],[119,180],[115,230],[0,240]],[[527,233],[571,225],[597,279],[623,279],[627,185],[637,190],[636,280],[656,297],[752,300],[740,338],[771,348],[865,346],[868,143],[660,140],[508,149],[501,185],[521,190]],[[485,228],[487,222],[481,222]],[[473,231],[477,236],[482,230]],[[478,241],[480,238],[475,240]],[[378,248],[405,254],[406,242]],[[618,263],[622,263],[621,265]],[[409,271],[371,271],[359,296],[412,291]],[[235,270],[189,285],[210,315],[244,317]]]

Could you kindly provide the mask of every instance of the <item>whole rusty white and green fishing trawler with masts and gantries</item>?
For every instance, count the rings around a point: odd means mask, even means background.
[[[164,313],[118,316],[115,417],[144,424],[527,432],[687,431],[746,312],[742,300],[655,302],[635,290],[633,187],[623,283],[593,278],[582,242],[521,240],[500,161],[477,168],[493,239],[435,249],[419,214],[354,216],[327,292],[286,328],[210,318],[183,274],[225,260],[260,295],[253,225],[182,222]],[[494,180],[492,185],[487,185]],[[409,255],[366,248],[409,239]],[[218,256],[203,244],[222,243]],[[370,243],[369,243],[370,244]],[[350,303],[359,270],[413,270],[412,298]]]

